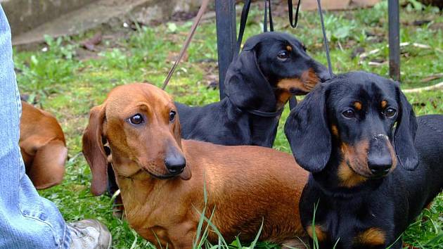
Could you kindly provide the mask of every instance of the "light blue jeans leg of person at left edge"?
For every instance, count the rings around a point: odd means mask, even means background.
[[[0,6],[0,248],[69,248],[58,208],[39,196],[25,174],[18,146],[20,115],[11,30]]]

